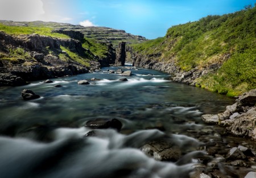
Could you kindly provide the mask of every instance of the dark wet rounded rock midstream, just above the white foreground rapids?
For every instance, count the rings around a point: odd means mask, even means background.
[[[105,119],[105,118],[97,118],[94,120],[90,120],[85,123],[85,127],[89,127],[91,129],[117,129],[118,131],[122,128],[122,122],[118,119]]]

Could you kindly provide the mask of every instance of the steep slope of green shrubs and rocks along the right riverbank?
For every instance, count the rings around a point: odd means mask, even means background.
[[[256,7],[180,24],[132,47],[135,66],[171,73],[174,81],[229,96],[256,88]]]

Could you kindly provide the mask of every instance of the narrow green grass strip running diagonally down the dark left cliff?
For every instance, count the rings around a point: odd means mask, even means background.
[[[90,63],[89,63],[90,59],[85,59],[84,57],[77,55],[77,53],[69,51],[69,49],[66,47],[60,46],[60,48],[63,51],[65,51],[65,53],[67,53],[67,56],[64,54],[59,54],[59,58],[61,60],[65,60],[65,61],[73,60],[73,61],[76,61],[77,63],[80,63],[80,64],[86,66],[86,67],[90,66]]]

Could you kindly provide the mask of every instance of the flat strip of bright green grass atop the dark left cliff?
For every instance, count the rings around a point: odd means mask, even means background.
[[[69,38],[64,34],[52,33],[53,29],[48,27],[23,27],[23,26],[6,26],[0,23],[0,31],[4,31],[9,35],[30,35],[38,34],[51,36],[53,38]]]

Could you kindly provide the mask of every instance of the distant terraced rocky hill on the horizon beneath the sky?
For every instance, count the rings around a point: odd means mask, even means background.
[[[83,27],[80,25],[73,25],[69,23],[57,23],[57,22],[13,22],[7,20],[0,20],[0,23],[7,26],[25,26],[25,27],[49,27],[60,30],[75,30],[80,31],[85,35],[85,38],[94,39],[97,42],[111,43],[114,47],[117,47],[119,42],[141,43],[147,39],[143,36],[131,35],[124,30],[115,30],[108,27]]]

